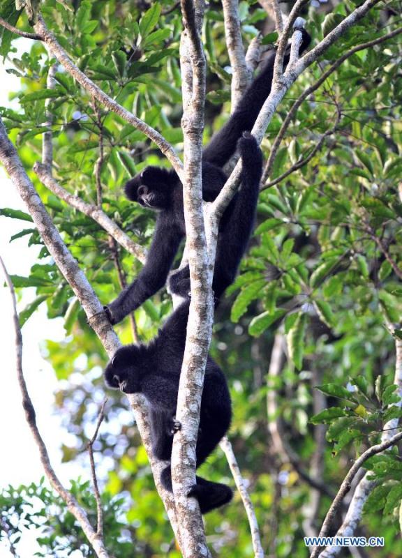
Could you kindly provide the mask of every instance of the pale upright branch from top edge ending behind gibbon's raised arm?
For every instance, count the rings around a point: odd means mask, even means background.
[[[243,41],[241,40],[239,1],[222,0],[222,7],[226,46],[228,47],[230,66],[232,67],[231,112],[234,112],[251,80],[251,71],[246,63]]]

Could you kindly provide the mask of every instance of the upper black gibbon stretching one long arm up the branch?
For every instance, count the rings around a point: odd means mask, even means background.
[[[301,52],[310,43],[303,33]],[[212,137],[202,156],[202,197],[214,201],[226,181],[222,168],[239,146],[243,162],[243,186],[226,209],[218,241],[214,292],[219,297],[237,272],[246,249],[255,215],[260,181],[261,154],[253,138],[248,135],[265,99],[271,91],[275,53],[271,52],[262,71],[248,87],[228,122]],[[285,56],[285,64],[289,54]],[[147,262],[131,285],[117,299],[105,307],[107,317],[117,324],[165,285],[179,244],[186,235],[183,211],[183,187],[173,170],[147,167],[126,183],[128,199],[158,211],[154,239]],[[188,269],[179,271],[170,283],[172,292],[183,294],[189,290]]]

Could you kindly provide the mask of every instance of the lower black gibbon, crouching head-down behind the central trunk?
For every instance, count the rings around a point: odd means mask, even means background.
[[[174,432],[181,363],[188,319],[188,301],[174,310],[158,336],[149,345],[126,345],[114,354],[105,369],[108,386],[125,393],[143,393],[149,402],[152,451],[160,460],[170,460]],[[208,357],[200,409],[200,430],[196,447],[197,467],[214,450],[228,431],[231,418],[230,394],[225,376]],[[223,506],[232,490],[199,476],[188,496],[198,499],[201,512]],[[170,465],[161,474],[163,486],[172,491]]]

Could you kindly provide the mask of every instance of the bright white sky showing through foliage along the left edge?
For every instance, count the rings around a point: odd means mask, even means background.
[[[23,50],[26,40],[17,41],[19,50]],[[20,80],[8,73],[5,68],[10,63],[0,60],[0,106],[10,106],[8,93],[20,89]],[[15,106],[15,104],[13,103]],[[0,207],[22,209],[24,204],[13,184],[7,179],[0,167]],[[22,221],[0,216],[0,255],[10,275],[29,275],[31,266],[36,263],[40,247],[28,248],[28,237],[22,237],[9,243],[10,236],[22,227]],[[29,289],[24,300],[18,303],[22,310],[27,302],[34,299],[34,289]],[[0,273],[0,346],[1,346],[1,387],[0,387],[0,490],[8,484],[17,486],[31,481],[38,481],[43,476],[43,469],[38,458],[38,451],[32,441],[29,428],[25,422],[21,405],[20,390],[15,374],[14,332],[11,315],[11,301],[8,289],[3,287]],[[59,444],[64,432],[57,416],[52,414],[53,392],[57,380],[49,363],[40,355],[40,343],[45,339],[61,340],[64,338],[62,319],[48,320],[45,308],[39,308],[22,328],[24,341],[24,375],[31,399],[34,402],[40,433],[47,443],[50,460],[59,478],[65,483],[70,478],[77,478],[81,473],[77,465],[60,465],[61,451]],[[16,546],[20,558],[32,558],[38,550],[35,534],[25,532],[21,542]],[[79,557],[74,552],[71,557]],[[0,558],[12,558],[7,545],[0,543]]]

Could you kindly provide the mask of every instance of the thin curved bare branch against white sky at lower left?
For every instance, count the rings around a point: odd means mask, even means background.
[[[13,323],[14,323],[14,330],[15,330],[15,351],[16,351],[16,370],[17,370],[17,379],[18,384],[20,384],[20,390],[22,393],[22,407],[24,407],[25,411],[25,418],[27,419],[27,423],[31,430],[32,436],[34,437],[34,441],[36,446],[38,446],[39,455],[40,455],[40,462],[43,465],[43,469],[45,470],[45,474],[50,481],[50,484],[59,494],[59,496],[66,502],[68,511],[72,513],[80,523],[82,530],[84,531],[85,535],[88,538],[89,543],[91,544],[92,548],[94,548],[94,552],[100,558],[110,558],[109,553],[105,548],[105,543],[103,538],[100,534],[98,534],[94,527],[92,527],[89,519],[87,517],[87,513],[84,511],[75,497],[64,488],[64,486],[59,481],[52,465],[50,464],[49,454],[47,453],[47,448],[45,446],[45,442],[43,442],[42,437],[40,436],[40,432],[38,430],[38,426],[36,425],[36,413],[34,409],[34,405],[32,405],[31,398],[29,397],[27,384],[25,383],[24,379],[24,372],[22,370],[22,334],[20,329],[20,323],[18,320],[17,315],[17,302],[15,299],[15,291],[13,287],[13,283],[11,282],[10,276],[6,270],[6,266],[3,263],[3,260],[0,257],[0,266],[3,269],[3,275],[6,279],[6,283],[8,285],[8,289],[10,290],[11,300],[13,303]]]

